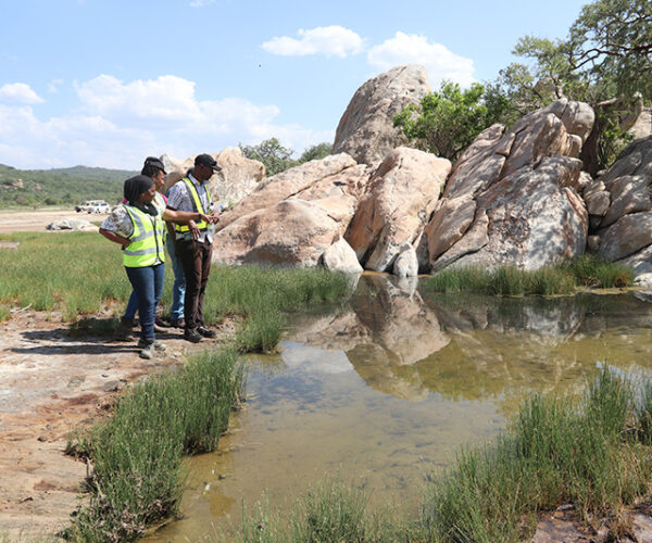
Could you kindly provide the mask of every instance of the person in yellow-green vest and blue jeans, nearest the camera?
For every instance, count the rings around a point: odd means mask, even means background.
[[[108,240],[122,245],[123,265],[138,296],[141,337],[138,346],[142,358],[151,358],[154,350],[165,349],[156,341],[154,317],[163,293],[165,248],[163,220],[197,220],[206,224],[214,218],[199,212],[170,210],[163,197],[155,191],[151,177],[137,175],[125,181],[127,201],[118,205],[100,227]]]

